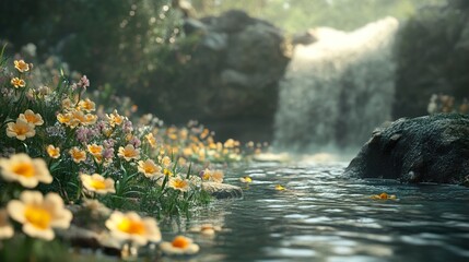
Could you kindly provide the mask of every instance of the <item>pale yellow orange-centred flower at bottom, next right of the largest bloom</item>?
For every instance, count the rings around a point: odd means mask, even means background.
[[[143,246],[146,242],[161,241],[161,231],[152,217],[140,217],[136,212],[113,212],[106,221],[110,235],[120,241],[131,240]]]

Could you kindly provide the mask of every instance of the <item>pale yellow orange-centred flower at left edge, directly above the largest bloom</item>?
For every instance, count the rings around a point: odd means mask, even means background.
[[[39,182],[51,183],[52,176],[42,158],[32,159],[24,153],[0,158],[1,175],[7,181],[17,181],[25,188],[34,188]]]

